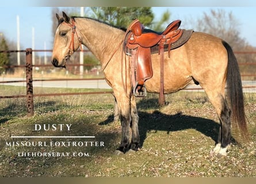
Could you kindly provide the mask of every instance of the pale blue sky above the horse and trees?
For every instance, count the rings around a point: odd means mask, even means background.
[[[240,36],[250,45],[256,47],[256,6],[255,7],[153,7],[155,20],[158,21],[166,10],[171,13],[170,22],[182,20],[181,28],[193,29],[186,26],[186,21],[200,18],[211,9],[230,11],[239,22]],[[78,9],[79,10],[79,9]],[[21,49],[32,48],[32,29],[35,31],[35,49],[52,49],[52,7],[0,7],[0,36],[4,34],[7,40],[17,43],[17,16],[20,22]],[[85,15],[86,16],[86,15]],[[56,22],[57,24],[57,22]],[[49,53],[51,54],[51,53]]]

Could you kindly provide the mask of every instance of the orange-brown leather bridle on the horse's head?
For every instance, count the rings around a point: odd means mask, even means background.
[[[63,62],[66,62],[66,60],[68,58],[70,58],[72,53],[75,52],[75,41],[74,41],[74,36],[75,35],[77,35],[77,37],[78,37],[79,48],[81,48],[81,51],[83,51],[83,48],[82,48],[82,39],[81,39],[81,37],[78,36],[77,26],[75,26],[74,18],[71,18],[71,23],[67,23],[67,22],[63,22],[63,23],[65,23],[66,25],[68,25],[68,26],[70,26],[72,28],[72,31],[71,31],[71,41],[70,41],[70,45],[69,45],[69,48],[68,48],[68,52],[67,52],[67,55],[65,55],[64,59],[63,59]]]

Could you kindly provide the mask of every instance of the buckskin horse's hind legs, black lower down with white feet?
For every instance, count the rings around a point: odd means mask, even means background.
[[[216,147],[213,149],[213,154],[226,156],[231,139],[231,111],[224,98],[224,92],[219,93],[216,89],[205,90],[205,92],[208,95],[209,101],[211,101],[212,105],[216,108],[220,120],[219,137]]]

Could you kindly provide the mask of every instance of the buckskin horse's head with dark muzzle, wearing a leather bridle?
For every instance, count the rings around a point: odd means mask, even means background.
[[[55,67],[66,67],[66,61],[81,46],[82,40],[78,36],[75,20],[63,12],[63,17],[56,17],[59,26],[56,29],[54,48],[52,50],[52,64]]]

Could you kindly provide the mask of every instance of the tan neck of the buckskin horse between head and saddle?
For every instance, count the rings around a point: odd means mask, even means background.
[[[82,43],[100,60],[108,62],[110,56],[124,39],[123,30],[90,18],[76,18],[77,28],[82,34]]]

